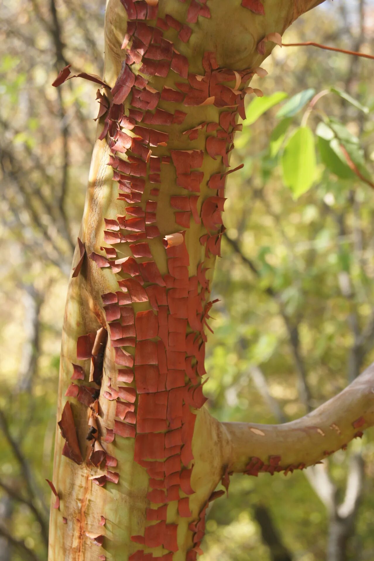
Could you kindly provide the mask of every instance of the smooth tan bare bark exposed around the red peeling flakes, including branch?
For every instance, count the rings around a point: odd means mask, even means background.
[[[191,24],[193,33],[187,43],[175,43],[181,54],[189,61],[189,72],[203,75],[202,58],[206,51],[215,52],[218,66],[231,70],[258,67],[266,56],[257,51],[257,44],[268,33],[282,34],[286,27],[301,13],[316,6],[316,0],[268,0],[266,16],[259,17],[245,10],[240,0],[230,2],[211,2],[211,18],[199,17],[196,24]],[[171,14],[176,20],[185,21],[187,4],[176,0],[164,0],[159,3],[159,15]],[[126,12],[120,0],[107,2],[105,39],[106,63],[104,81],[111,87],[115,84],[124,59],[121,50],[126,33]],[[266,44],[266,54],[273,47]],[[181,82],[180,76],[168,72],[166,78],[147,77],[149,85],[161,91],[163,86],[174,87]],[[127,103],[127,102],[126,102]],[[200,132],[196,140],[190,141],[183,132],[203,121],[218,122],[222,108],[215,105],[185,107],[174,104],[186,113],[183,125],[158,127],[169,134],[167,148],[157,146],[153,154],[163,156],[172,150],[203,150],[204,160],[200,171],[204,172],[201,183],[198,210],[212,195],[207,181],[216,173],[223,173],[225,167],[220,158],[213,159],[206,153],[207,134]],[[162,101],[158,107],[171,111],[170,103]],[[102,131],[103,119],[98,125],[98,136]],[[117,200],[118,185],[113,182],[113,171],[107,165],[110,155],[107,141],[96,140],[89,174],[88,191],[80,239],[85,244],[86,255],[80,274],[72,278],[67,296],[65,320],[63,325],[60,385],[58,390],[57,419],[61,419],[63,407],[67,401],[64,397],[70,385],[72,364],[78,364],[85,370],[86,380],[89,376],[89,361],[78,361],[76,342],[81,335],[96,332],[100,327],[108,329],[108,323],[102,306],[101,295],[118,290],[118,279],[110,268],[98,268],[88,255],[91,252],[102,254],[105,246],[103,231],[104,218],[115,220],[124,214],[124,203]],[[148,200],[150,190],[154,187],[147,182],[142,203]],[[162,245],[162,237],[181,230],[175,222],[175,213],[170,206],[170,196],[185,192],[176,185],[175,168],[168,165],[163,168],[162,185],[157,206],[157,226],[161,237],[148,240],[152,256],[161,275],[166,275],[167,259]],[[206,257],[205,248],[200,237],[206,233],[203,224],[191,220],[186,230],[185,243],[189,254],[189,277],[197,274],[200,263],[209,268],[208,280],[212,280],[215,256]],[[118,244],[119,245],[119,244]],[[117,249],[117,258],[131,256],[128,243],[121,243]],[[76,250],[74,265],[79,259]],[[149,302],[133,305],[135,312],[150,309]],[[98,399],[96,417],[98,434],[106,434],[105,427],[113,427],[116,402],[103,396],[108,384],[116,380],[115,352],[110,342],[104,353],[103,379]],[[132,384],[134,387],[134,383]],[[172,556],[173,561],[185,561],[186,554],[193,546],[193,531],[190,522],[196,522],[203,507],[218,482],[228,471],[245,472],[251,458],[258,458],[255,471],[266,471],[264,466],[271,464],[269,457],[281,456],[276,466],[286,470],[290,466],[310,465],[325,455],[345,445],[361,429],[374,422],[372,388],[372,370],[364,373],[354,384],[316,412],[281,426],[258,426],[246,424],[221,424],[213,419],[203,407],[195,410],[197,414],[192,442],[193,471],[191,486],[195,493],[189,496],[190,517],[180,517],[177,503],[171,502],[167,508],[167,524],[177,524],[178,550]],[[65,443],[60,430],[56,433],[56,450],[54,456],[53,483],[60,496],[60,509],[51,509],[51,531],[49,561],[93,561],[104,555],[106,559],[127,561],[129,555],[139,549],[131,541],[131,536],[144,535],[146,526],[145,513],[149,507],[147,493],[149,477],[144,467],[134,461],[134,438],[115,438],[104,444],[107,454],[117,459],[117,466],[110,468],[119,474],[117,484],[107,482],[105,487],[95,485],[93,477],[101,475],[103,470],[89,462],[90,442],[86,440],[89,430],[89,417],[92,410],[76,399],[69,399],[74,415],[79,446],[83,463],[77,465],[71,459],[62,456]],[[357,421],[360,417],[363,421]],[[357,422],[355,422],[357,421]],[[322,434],[323,433],[323,434]],[[252,462],[253,464],[253,462]],[[271,464],[273,465],[273,464]],[[252,465],[251,465],[252,466]],[[253,466],[250,468],[253,471]],[[256,474],[253,474],[256,475]],[[100,525],[101,517],[106,519]],[[66,519],[66,521],[64,520]],[[95,544],[94,536],[104,536],[102,546]],[[146,549],[147,551],[147,549]],[[165,549],[153,548],[154,556],[166,553]]]

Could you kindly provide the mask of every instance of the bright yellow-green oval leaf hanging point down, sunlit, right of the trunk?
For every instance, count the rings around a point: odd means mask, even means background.
[[[312,187],[316,170],[313,133],[309,127],[299,127],[290,137],[282,155],[283,181],[294,199]]]

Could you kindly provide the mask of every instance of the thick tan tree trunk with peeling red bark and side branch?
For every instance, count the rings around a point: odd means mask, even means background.
[[[225,179],[249,85],[322,0],[108,0],[63,325],[49,561],[194,561],[232,473],[313,465],[374,422],[374,370],[284,425],[204,408]],[[54,85],[70,79],[64,68]]]

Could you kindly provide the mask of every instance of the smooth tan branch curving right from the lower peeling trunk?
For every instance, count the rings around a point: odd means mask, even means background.
[[[345,449],[350,440],[362,435],[363,428],[374,425],[374,364],[343,392],[301,419],[283,425],[223,425],[232,445],[230,471],[248,472],[251,458],[258,459],[257,472],[271,471],[266,466],[274,462],[273,471],[285,471],[285,475],[312,466],[339,448]],[[257,473],[252,470],[251,475]]]

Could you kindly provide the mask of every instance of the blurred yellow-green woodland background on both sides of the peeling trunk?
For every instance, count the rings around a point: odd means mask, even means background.
[[[47,559],[60,334],[97,113],[92,84],[51,83],[67,63],[101,74],[103,17],[104,2],[1,6],[0,561]],[[373,33],[373,3],[339,0],[284,41],[369,52]],[[244,168],[227,182],[208,339],[220,420],[294,419],[374,360],[373,64],[276,47],[251,84],[264,98],[236,137]],[[233,476],[202,559],[371,560],[373,475],[368,433],[305,472]]]

